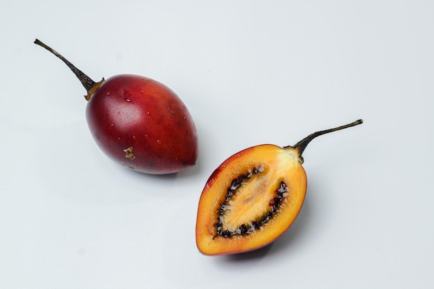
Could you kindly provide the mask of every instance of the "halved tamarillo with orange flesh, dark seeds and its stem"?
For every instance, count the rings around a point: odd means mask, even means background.
[[[307,178],[302,153],[315,137],[363,123],[314,132],[294,146],[253,146],[229,157],[200,196],[196,244],[202,254],[248,252],[275,241],[302,209]]]

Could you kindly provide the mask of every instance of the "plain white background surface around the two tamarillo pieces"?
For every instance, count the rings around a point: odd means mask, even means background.
[[[2,1],[0,288],[433,288],[433,1]],[[135,73],[189,107],[200,156],[170,176],[107,159],[85,89]],[[203,256],[211,172],[261,143],[304,153],[272,245]]]

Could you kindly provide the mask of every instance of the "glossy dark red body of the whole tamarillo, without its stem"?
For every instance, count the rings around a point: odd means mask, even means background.
[[[196,164],[198,135],[182,100],[160,82],[108,78],[86,107],[94,140],[117,163],[141,173],[177,173]]]

